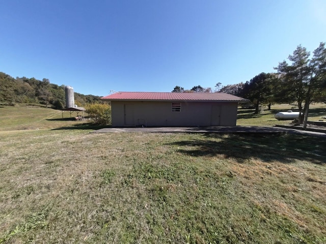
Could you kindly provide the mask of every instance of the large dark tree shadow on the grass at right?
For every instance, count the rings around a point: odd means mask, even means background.
[[[314,164],[325,164],[325,138],[293,134],[205,134],[203,140],[184,140],[170,145],[181,147],[177,151],[193,157],[223,155],[238,163],[252,158],[264,162],[292,163],[308,160]]]

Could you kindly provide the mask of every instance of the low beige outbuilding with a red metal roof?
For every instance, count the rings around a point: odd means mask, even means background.
[[[225,93],[117,92],[102,100],[111,101],[115,127],[235,126],[238,103],[248,102]]]

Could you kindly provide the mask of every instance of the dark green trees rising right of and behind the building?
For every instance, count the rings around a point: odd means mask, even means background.
[[[307,125],[309,105],[313,102],[326,103],[326,48],[320,42],[312,55],[305,47],[297,46],[288,56],[289,63],[284,60],[274,69],[275,73],[260,73],[250,81],[230,84],[221,87],[215,85],[214,92],[228,93],[249,99],[259,112],[262,105],[289,103],[296,105],[300,116],[298,123]],[[212,88],[194,86],[190,90],[175,86],[172,92],[212,92]]]

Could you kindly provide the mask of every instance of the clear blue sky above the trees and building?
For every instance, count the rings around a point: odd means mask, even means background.
[[[0,71],[85,95],[246,82],[326,41],[324,0],[0,0]]]

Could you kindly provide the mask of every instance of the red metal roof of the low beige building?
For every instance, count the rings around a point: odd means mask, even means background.
[[[102,98],[107,101],[220,101],[248,102],[226,93],[148,93],[148,92],[118,92]]]

